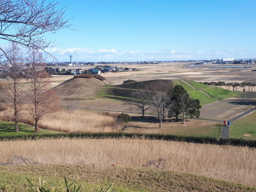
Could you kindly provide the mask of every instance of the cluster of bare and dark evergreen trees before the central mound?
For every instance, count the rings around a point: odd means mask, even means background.
[[[126,104],[131,105],[131,109],[140,111],[142,118],[148,110],[153,111],[159,121],[159,128],[162,127],[162,122],[166,117],[176,117],[182,114],[183,124],[185,123],[185,116],[189,115],[190,118],[200,116],[200,101],[198,99],[190,98],[187,91],[182,86],[175,86],[174,88],[161,88],[160,85],[155,85],[158,91],[143,90],[134,93],[134,99]]]

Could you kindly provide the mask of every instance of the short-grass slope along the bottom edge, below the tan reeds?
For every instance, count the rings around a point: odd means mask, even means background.
[[[37,184],[39,177],[64,189],[63,177],[82,185],[81,191],[99,191],[114,183],[115,191],[256,191],[256,188],[207,177],[146,167],[97,165],[19,165],[2,166],[0,191],[30,191],[26,177]]]

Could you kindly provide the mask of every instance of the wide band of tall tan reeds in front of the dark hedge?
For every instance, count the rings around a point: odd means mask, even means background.
[[[256,186],[254,148],[145,139],[1,141],[1,162],[22,156],[39,164],[142,166],[163,158],[164,167]]]

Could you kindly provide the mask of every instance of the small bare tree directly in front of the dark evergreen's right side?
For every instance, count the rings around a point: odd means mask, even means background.
[[[178,95],[176,105],[183,114],[183,124],[185,124],[185,115],[189,112],[189,109],[193,108],[195,100],[191,99],[187,93],[182,93]]]

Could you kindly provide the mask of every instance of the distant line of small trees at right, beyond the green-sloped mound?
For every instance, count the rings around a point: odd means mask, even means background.
[[[228,90],[230,90],[230,88],[232,88],[233,91],[238,91],[238,88],[240,87],[240,88],[243,89],[243,92],[246,91],[246,88],[247,88],[248,92],[252,92],[253,88],[256,86],[255,83],[245,82],[245,81],[241,82],[241,83],[238,83],[238,82],[225,83],[223,81],[218,81],[218,82],[200,82],[200,83],[206,84],[207,86],[218,86],[220,88],[225,87],[225,89],[228,89]]]

